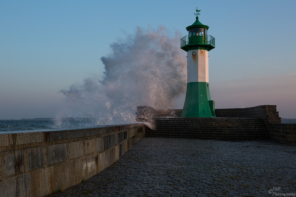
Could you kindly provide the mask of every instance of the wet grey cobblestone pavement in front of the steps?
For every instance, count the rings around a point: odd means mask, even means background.
[[[295,164],[296,146],[272,141],[146,137],[99,174],[51,196],[294,196]]]

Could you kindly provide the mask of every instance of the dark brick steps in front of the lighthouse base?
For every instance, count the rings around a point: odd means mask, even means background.
[[[246,141],[271,139],[262,118],[156,118],[147,137]]]

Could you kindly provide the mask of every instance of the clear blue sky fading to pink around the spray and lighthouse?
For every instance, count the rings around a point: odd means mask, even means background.
[[[216,108],[277,105],[296,118],[296,1],[71,0],[0,2],[0,119],[55,117],[59,91],[102,74],[100,58],[122,30],[163,25],[185,36],[196,7],[215,37]]]

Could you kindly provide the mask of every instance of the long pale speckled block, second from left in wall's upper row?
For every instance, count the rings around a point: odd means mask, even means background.
[[[44,132],[16,133],[16,144],[30,144],[44,141]]]

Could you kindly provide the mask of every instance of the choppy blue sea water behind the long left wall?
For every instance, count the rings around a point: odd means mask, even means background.
[[[77,128],[82,126],[96,126],[94,118],[62,118],[58,120],[0,120],[0,132],[26,131],[54,128]]]

